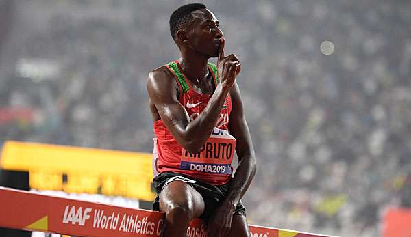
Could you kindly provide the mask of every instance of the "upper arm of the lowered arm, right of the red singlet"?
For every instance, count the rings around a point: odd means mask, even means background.
[[[236,83],[230,90],[230,96],[232,97],[232,112],[229,116],[229,131],[237,140],[236,152],[238,158],[241,159],[243,156],[254,154],[253,143],[245,120],[240,90]]]

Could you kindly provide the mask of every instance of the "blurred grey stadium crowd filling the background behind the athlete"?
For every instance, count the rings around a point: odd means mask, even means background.
[[[1,1],[0,145],[151,152],[145,78],[178,57],[184,3]],[[411,206],[411,2],[205,3],[242,60],[250,223],[379,236],[388,206]]]

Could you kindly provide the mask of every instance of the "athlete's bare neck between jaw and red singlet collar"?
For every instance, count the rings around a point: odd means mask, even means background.
[[[182,51],[179,64],[190,81],[203,79],[208,74],[208,57],[203,55]]]

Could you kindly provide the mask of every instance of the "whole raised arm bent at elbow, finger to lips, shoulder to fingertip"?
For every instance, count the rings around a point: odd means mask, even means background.
[[[224,45],[221,44],[217,63],[220,83],[206,109],[195,120],[190,121],[186,109],[178,101],[176,82],[164,68],[151,72],[147,78],[147,91],[151,103],[178,143],[192,154],[197,154],[210,137],[224,100],[235,81],[236,70],[240,67],[235,55],[224,57],[223,48]]]

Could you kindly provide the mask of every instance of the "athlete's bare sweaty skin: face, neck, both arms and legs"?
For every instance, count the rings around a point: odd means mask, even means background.
[[[192,87],[201,94],[212,94],[207,107],[195,120],[190,121],[184,106],[178,100],[178,85],[173,74],[162,66],[149,73],[147,91],[153,121],[162,120],[188,152],[197,154],[206,142],[221,113],[227,94],[232,98],[229,116],[229,132],[236,138],[238,169],[223,204],[216,209],[208,224],[208,236],[248,236],[245,217],[234,215],[238,201],[247,191],[256,173],[249,128],[243,113],[242,100],[236,76],[240,72],[240,61],[236,55],[224,54],[225,40],[219,29],[219,20],[208,9],[192,12],[195,20],[190,30],[180,29],[175,42],[182,57],[179,64],[190,80]],[[208,59],[218,57],[219,84],[215,87],[208,73]],[[166,212],[164,236],[186,236],[190,221],[199,217],[204,210],[203,197],[188,186],[175,181],[165,186],[160,193],[160,210]]]

